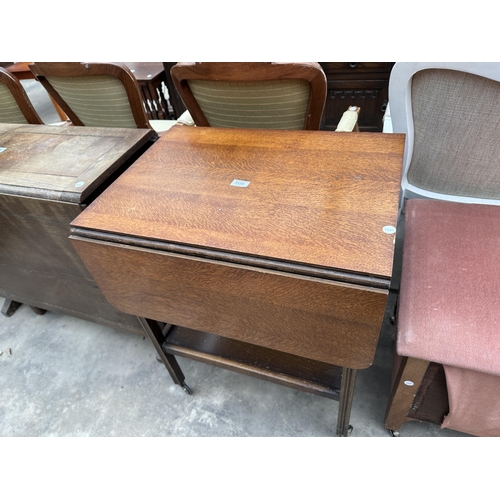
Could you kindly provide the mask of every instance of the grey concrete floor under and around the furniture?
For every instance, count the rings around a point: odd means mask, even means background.
[[[25,87],[45,122],[59,121],[43,89]],[[373,366],[358,372],[351,439],[390,437],[383,422],[393,335],[387,324]],[[70,316],[27,306],[0,315],[0,351],[3,437],[335,435],[335,401],[181,358],[189,396],[147,338]],[[466,436],[420,422],[401,435]]]

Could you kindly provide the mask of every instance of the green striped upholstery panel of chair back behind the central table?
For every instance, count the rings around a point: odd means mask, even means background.
[[[311,92],[305,80],[188,84],[211,127],[304,128]]]

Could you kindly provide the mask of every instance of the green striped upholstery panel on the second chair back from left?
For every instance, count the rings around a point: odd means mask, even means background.
[[[46,78],[85,126],[137,128],[127,93],[118,78],[109,75]]]

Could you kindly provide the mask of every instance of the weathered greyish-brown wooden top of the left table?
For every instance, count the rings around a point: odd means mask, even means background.
[[[0,193],[80,203],[153,135],[0,123]]]

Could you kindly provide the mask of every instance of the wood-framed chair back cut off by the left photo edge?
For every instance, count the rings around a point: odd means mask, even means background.
[[[43,124],[21,82],[0,67],[0,123]]]

